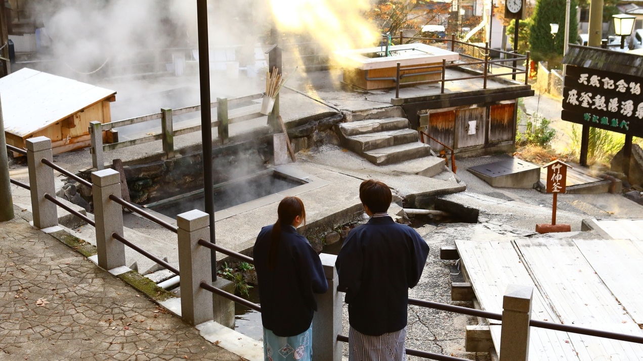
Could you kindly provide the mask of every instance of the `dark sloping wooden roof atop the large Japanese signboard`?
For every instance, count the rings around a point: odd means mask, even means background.
[[[570,44],[563,63],[643,78],[643,56],[599,47]]]

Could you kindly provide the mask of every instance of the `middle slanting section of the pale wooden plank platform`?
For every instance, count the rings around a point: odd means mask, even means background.
[[[643,336],[574,240],[520,239],[515,243],[539,292],[562,323]],[[643,356],[640,344],[574,333],[568,337],[581,360],[638,360]]]

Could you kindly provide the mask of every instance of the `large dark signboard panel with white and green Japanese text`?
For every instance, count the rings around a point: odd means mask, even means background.
[[[642,78],[570,66],[563,90],[565,121],[643,135]]]

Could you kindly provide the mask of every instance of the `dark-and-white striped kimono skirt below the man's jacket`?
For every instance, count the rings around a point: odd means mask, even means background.
[[[349,329],[349,361],[406,361],[406,327],[379,336]]]

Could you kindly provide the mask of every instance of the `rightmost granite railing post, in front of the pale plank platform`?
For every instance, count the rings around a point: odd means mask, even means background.
[[[534,288],[507,285],[502,301],[500,361],[523,361],[529,357],[529,320]]]

